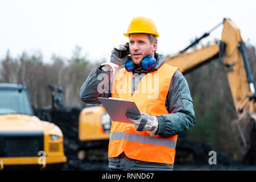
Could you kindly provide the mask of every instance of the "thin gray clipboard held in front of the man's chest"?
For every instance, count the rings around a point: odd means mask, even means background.
[[[141,114],[137,105],[133,101],[126,101],[120,98],[103,98],[98,97],[101,104],[105,107],[112,121],[123,122],[123,123],[133,123],[128,119],[125,113]]]

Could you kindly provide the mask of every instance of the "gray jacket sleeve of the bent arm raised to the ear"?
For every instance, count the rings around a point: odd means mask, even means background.
[[[100,104],[98,97],[111,97],[110,71],[103,71],[102,66],[94,69],[80,88],[80,98],[86,104]]]

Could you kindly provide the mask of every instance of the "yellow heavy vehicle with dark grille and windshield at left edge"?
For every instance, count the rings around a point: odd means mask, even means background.
[[[24,84],[0,84],[0,170],[61,169],[63,133],[34,115]]]

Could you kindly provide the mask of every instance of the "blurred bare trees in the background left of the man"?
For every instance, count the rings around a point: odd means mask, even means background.
[[[63,88],[64,106],[77,106],[82,104],[80,87],[98,64],[90,63],[85,55],[81,55],[79,46],[75,47],[71,59],[53,55],[51,63],[44,63],[42,55],[28,56],[23,52],[19,57],[12,57],[7,51],[0,61],[0,82],[26,82],[31,102],[38,108],[51,105],[48,84],[57,84]]]

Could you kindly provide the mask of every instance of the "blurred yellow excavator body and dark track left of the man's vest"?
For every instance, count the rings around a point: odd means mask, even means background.
[[[101,105],[85,107],[79,115],[79,160],[107,160],[111,118]]]

